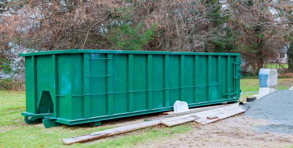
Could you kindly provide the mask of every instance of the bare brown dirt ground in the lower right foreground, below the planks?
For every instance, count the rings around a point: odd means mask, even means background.
[[[177,134],[158,143],[140,147],[155,148],[272,148],[293,145],[293,134],[273,132],[258,133],[253,125],[269,125],[263,119],[237,116],[194,128],[191,132]]]

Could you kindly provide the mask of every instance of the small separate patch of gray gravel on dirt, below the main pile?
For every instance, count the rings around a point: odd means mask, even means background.
[[[256,126],[254,128],[257,132],[276,132],[276,133],[293,133],[293,125],[285,125],[285,124],[270,124],[266,126]]]

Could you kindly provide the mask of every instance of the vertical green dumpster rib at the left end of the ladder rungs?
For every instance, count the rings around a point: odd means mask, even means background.
[[[83,92],[89,94],[89,54],[84,54],[84,69],[83,69]],[[84,119],[90,117],[90,96],[84,95]]]

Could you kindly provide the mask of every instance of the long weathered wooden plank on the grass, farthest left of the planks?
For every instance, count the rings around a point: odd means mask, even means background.
[[[155,121],[149,121],[149,122],[143,122],[143,123],[138,123],[138,124],[133,124],[129,126],[124,126],[124,127],[119,127],[119,128],[114,128],[114,129],[107,129],[107,130],[102,130],[102,131],[97,131],[89,134],[84,134],[80,136],[75,136],[75,137],[70,137],[70,138],[65,138],[62,139],[62,142],[65,145],[71,145],[74,143],[80,143],[84,141],[89,141],[89,140],[94,140],[110,135],[115,135],[127,131],[132,131],[136,129],[143,129],[147,127],[152,127],[152,126],[157,126],[160,125],[160,120],[155,120]]]

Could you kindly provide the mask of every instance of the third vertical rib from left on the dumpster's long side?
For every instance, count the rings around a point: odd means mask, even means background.
[[[134,111],[133,54],[128,55],[128,112]],[[132,92],[131,92],[132,91]]]

